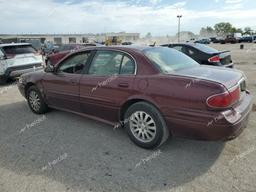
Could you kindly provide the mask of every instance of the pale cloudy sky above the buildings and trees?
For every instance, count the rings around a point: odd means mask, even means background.
[[[0,0],[0,33],[198,33],[231,22],[256,30],[255,0]]]

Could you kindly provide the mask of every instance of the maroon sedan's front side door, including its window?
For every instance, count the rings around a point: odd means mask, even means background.
[[[80,112],[79,81],[91,55],[90,51],[73,54],[63,60],[54,73],[43,80],[46,99],[50,106]]]

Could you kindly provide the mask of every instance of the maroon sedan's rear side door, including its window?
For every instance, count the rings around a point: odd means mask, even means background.
[[[132,95],[135,65],[135,60],[126,53],[97,51],[80,81],[83,113],[118,121],[121,103]]]

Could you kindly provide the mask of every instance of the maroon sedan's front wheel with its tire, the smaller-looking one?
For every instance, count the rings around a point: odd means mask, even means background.
[[[45,103],[41,92],[36,86],[31,86],[26,92],[29,108],[35,114],[45,114],[48,111],[48,106]]]

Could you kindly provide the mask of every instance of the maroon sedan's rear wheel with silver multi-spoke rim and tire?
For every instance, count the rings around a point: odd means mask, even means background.
[[[125,113],[125,120],[128,136],[139,147],[155,149],[169,137],[162,115],[149,103],[138,102],[130,106]]]

